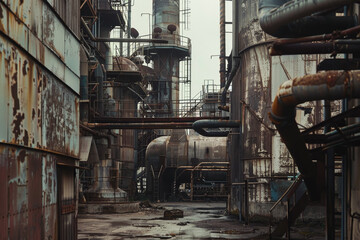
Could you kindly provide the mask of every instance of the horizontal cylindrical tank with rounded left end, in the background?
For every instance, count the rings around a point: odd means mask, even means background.
[[[183,132],[183,134],[181,134]],[[179,131],[171,136],[162,136],[153,140],[146,149],[147,192],[153,193],[156,181],[159,181],[160,198],[166,199],[171,191],[181,183],[189,183],[190,172],[179,170],[195,167],[204,162],[226,162],[226,137],[209,138],[198,135],[186,135]],[[224,172],[206,172],[208,181],[226,180]],[[176,181],[174,181],[174,179]]]

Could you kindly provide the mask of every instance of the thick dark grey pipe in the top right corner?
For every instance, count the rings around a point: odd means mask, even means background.
[[[310,16],[359,0],[260,0],[260,26],[275,37],[301,37],[330,33],[357,25],[354,16]]]

